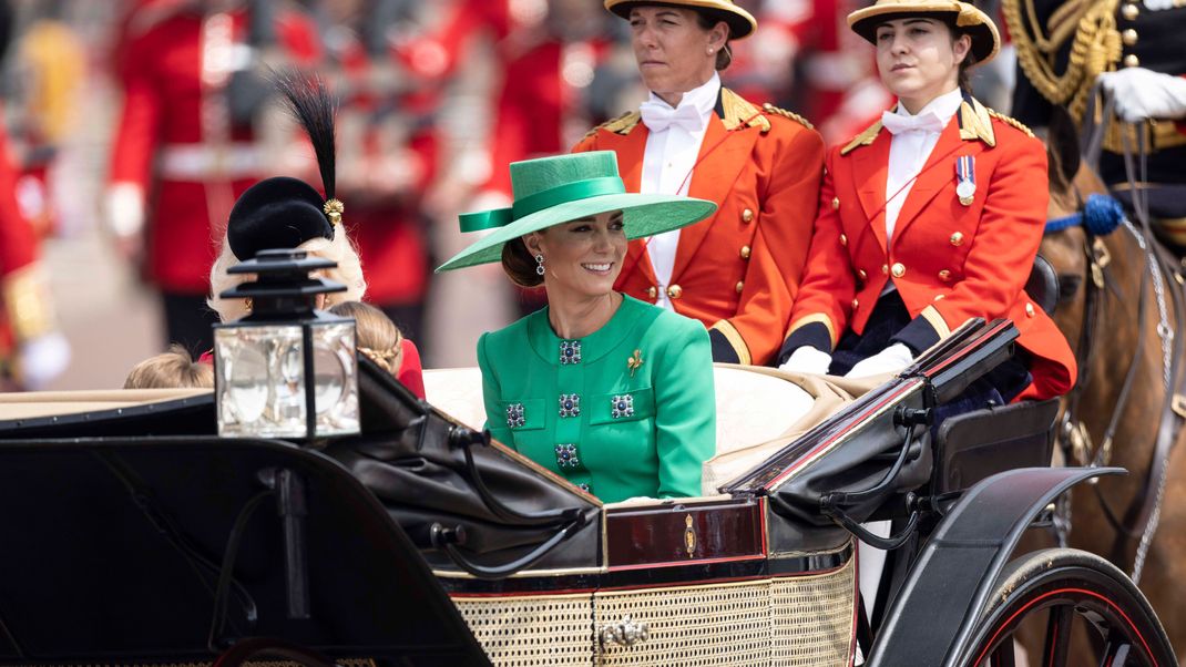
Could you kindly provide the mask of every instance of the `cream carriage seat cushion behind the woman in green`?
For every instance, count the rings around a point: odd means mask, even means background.
[[[716,364],[716,454],[774,440],[799,422],[815,396],[769,368]],[[478,368],[425,371],[428,403],[467,427],[486,422]]]

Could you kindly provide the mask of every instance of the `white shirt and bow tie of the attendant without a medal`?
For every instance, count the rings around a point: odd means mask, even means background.
[[[680,105],[671,105],[651,92],[650,100],[643,103],[643,123],[650,134],[646,136],[646,148],[643,153],[642,182],[638,191],[644,194],[688,194],[691,182],[693,166],[700,155],[700,145],[704,141],[708,120],[716,107],[720,96],[721,79],[714,72],[713,78],[700,88],[683,94]],[[695,114],[693,113],[695,111]],[[659,123],[648,122],[652,115],[678,115],[670,124],[656,132]],[[696,122],[699,120],[699,123]],[[652,127],[652,123],[655,127]],[[680,230],[655,235],[646,245],[646,252],[658,280],[657,306],[672,309],[667,296],[671,282],[671,270],[675,268],[675,252],[680,245]]]

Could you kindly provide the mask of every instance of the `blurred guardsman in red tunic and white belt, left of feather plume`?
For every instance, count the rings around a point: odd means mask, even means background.
[[[145,254],[168,341],[209,349],[216,318],[205,294],[227,216],[272,171],[253,128],[267,91],[253,77],[257,54],[276,44],[289,64],[308,64],[315,31],[262,0],[148,0],[134,11],[121,45],[109,225],[127,255]]]

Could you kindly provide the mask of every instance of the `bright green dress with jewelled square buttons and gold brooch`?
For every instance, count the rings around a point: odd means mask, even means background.
[[[483,334],[493,437],[605,502],[700,495],[716,449],[708,332],[624,296],[597,332],[562,340],[543,308]]]

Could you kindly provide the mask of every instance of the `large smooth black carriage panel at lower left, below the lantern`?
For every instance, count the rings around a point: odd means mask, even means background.
[[[274,490],[280,470],[300,480],[298,493]],[[0,662],[209,661],[211,636],[216,647],[269,636],[336,658],[484,663],[404,532],[310,449],[11,440],[0,442]],[[302,533],[293,550],[286,517]],[[291,585],[294,557],[306,567]],[[221,572],[232,573],[222,585]],[[293,599],[307,618],[292,617]]]

